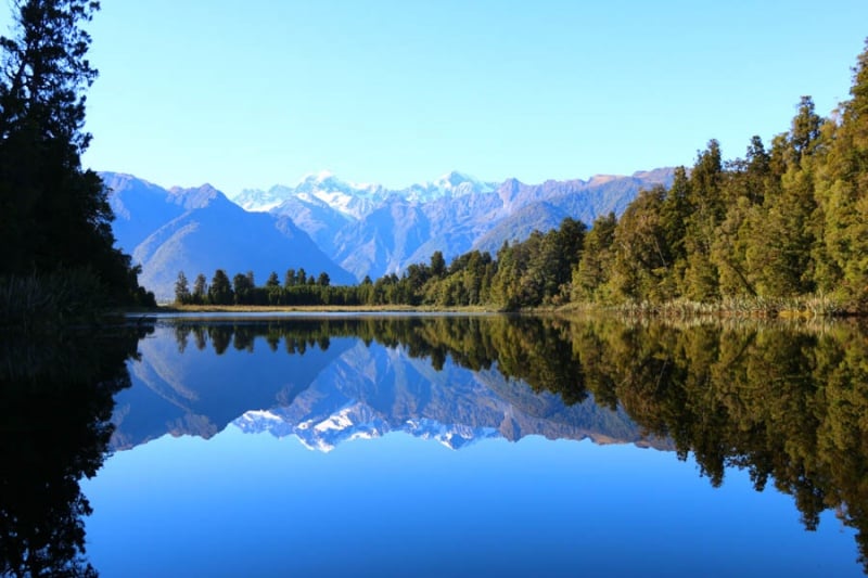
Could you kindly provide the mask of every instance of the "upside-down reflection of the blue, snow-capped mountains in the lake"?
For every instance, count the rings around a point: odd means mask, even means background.
[[[446,362],[437,370],[400,345],[334,337],[324,348],[288,352],[285,343],[271,347],[263,336],[215,356],[207,346],[183,345],[178,335],[158,326],[139,344],[132,387],[116,396],[113,450],[165,434],[207,439],[230,424],[246,433],[294,435],[327,452],[390,432],[452,449],[527,435],[671,449],[668,441],[644,436],[621,408],[592,399],[566,406],[559,395],[534,393],[496,369],[474,372]]]

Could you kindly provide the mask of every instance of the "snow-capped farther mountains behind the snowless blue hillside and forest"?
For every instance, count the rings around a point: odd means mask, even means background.
[[[427,261],[436,251],[447,261],[471,248],[494,254],[503,241],[523,240],[534,229],[548,231],[564,217],[590,224],[599,215],[620,215],[641,189],[668,185],[672,176],[664,168],[587,181],[525,184],[508,179],[497,184],[450,172],[431,183],[390,191],[321,174],[296,187],[247,190],[234,202],[290,217],[361,280],[399,273]]]

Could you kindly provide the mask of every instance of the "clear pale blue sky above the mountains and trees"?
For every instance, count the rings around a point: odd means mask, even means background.
[[[102,0],[85,165],[162,185],[524,182],[742,156],[848,98],[866,0]]]

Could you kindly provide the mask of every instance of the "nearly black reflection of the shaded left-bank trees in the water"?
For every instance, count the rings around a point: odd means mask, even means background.
[[[93,576],[79,480],[102,466],[141,333],[0,337],[0,575]]]

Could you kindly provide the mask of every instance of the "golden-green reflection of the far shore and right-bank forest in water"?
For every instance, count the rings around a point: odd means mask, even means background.
[[[195,323],[176,326],[179,347]],[[222,333],[221,333],[222,332]],[[215,351],[232,341],[252,348],[265,336],[289,352],[328,347],[328,338],[406,348],[435,369],[447,356],[477,371],[496,367],[566,403],[592,395],[624,408],[648,434],[693,454],[711,484],[744,468],[754,487],[769,481],[794,498],[807,529],[825,510],[857,530],[868,553],[868,332],[863,323],[629,322],[614,318],[371,317],[207,331]],[[867,566],[868,567],[868,566]]]

